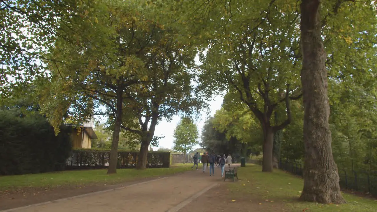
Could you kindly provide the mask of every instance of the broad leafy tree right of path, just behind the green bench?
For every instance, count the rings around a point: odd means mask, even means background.
[[[210,45],[205,46],[201,57],[203,91],[207,95],[214,89],[237,92],[239,101],[260,123],[264,172],[273,171],[274,133],[291,122],[290,100],[301,97],[299,75],[294,72],[300,68],[299,34],[294,28],[298,15],[287,14],[286,2],[273,2],[250,3],[253,7],[250,5],[249,10],[241,3],[226,3],[225,8],[219,4],[221,9],[215,8],[213,15],[221,15],[222,21],[212,18]],[[239,12],[232,12],[231,8]],[[274,111],[282,104],[285,119],[275,122]]]

